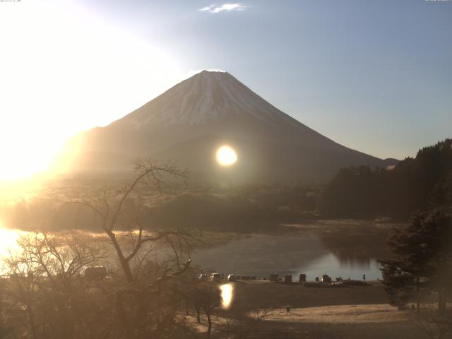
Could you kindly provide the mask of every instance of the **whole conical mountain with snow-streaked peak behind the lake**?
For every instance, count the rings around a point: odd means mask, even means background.
[[[349,165],[384,167],[281,112],[230,73],[202,71],[105,127],[80,133],[75,172],[129,172],[137,157],[174,160],[201,181],[321,182]],[[238,161],[221,167],[230,145]]]

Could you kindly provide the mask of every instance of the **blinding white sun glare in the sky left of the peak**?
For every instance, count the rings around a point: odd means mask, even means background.
[[[0,11],[8,51],[0,63],[0,182],[47,170],[76,133],[131,112],[184,73],[162,47],[81,1],[22,2]]]

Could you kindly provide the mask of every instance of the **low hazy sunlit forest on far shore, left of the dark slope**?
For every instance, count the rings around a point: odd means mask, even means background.
[[[102,186],[47,188],[42,194],[1,206],[5,225],[22,230],[99,230],[93,211],[69,201],[97,201]],[[121,191],[117,184],[109,189]],[[251,232],[272,229],[280,222],[315,218],[317,186],[237,184],[226,188],[177,187],[162,192],[141,188],[125,203],[124,215],[139,219],[148,230],[189,228]],[[125,218],[125,217],[123,217]]]

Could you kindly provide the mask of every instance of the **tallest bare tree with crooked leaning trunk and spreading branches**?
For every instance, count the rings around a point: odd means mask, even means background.
[[[169,289],[165,287],[171,285],[169,280],[179,279],[190,268],[190,247],[196,237],[186,230],[145,232],[139,211],[127,213],[128,201],[141,198],[141,190],[150,187],[160,192],[169,179],[185,179],[186,172],[172,163],[156,165],[148,160],[137,161],[135,169],[136,178],[119,194],[104,191],[98,198],[73,203],[97,215],[100,230],[112,244],[124,274],[124,285],[114,293],[121,335],[148,338],[149,333],[160,331],[153,304],[159,299],[168,299]],[[162,263],[149,262],[155,247],[169,251]]]

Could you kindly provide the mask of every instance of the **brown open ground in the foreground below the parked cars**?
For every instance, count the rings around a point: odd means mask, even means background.
[[[427,338],[402,311],[388,305],[386,292],[379,282],[340,288],[268,281],[232,284],[232,307],[214,312],[213,338],[221,338],[225,323],[234,319],[249,320],[253,330],[246,338]],[[286,307],[290,307],[290,312]],[[266,315],[257,321],[256,316],[263,313]],[[203,319],[198,331],[205,329],[206,319]]]

